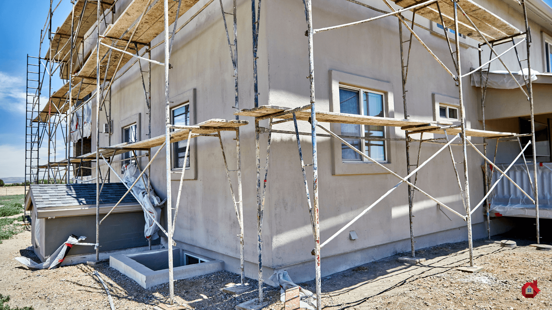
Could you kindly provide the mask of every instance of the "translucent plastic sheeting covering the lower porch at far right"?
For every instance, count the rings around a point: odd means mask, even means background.
[[[497,164],[502,171],[509,164]],[[533,163],[527,163],[529,174],[533,180]],[[519,187],[533,197],[525,164],[514,164],[506,173]],[[491,185],[501,173],[493,169]],[[552,163],[537,163],[537,180],[539,185],[539,217],[552,218]],[[491,213],[502,216],[535,217],[535,205],[515,185],[506,178],[499,181],[491,198]]]

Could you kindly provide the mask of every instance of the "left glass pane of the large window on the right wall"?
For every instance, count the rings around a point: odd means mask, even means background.
[[[359,91],[352,89],[339,88],[339,109],[341,113],[347,114],[360,114],[360,98]],[[341,124],[341,135],[360,137],[362,131],[361,125],[355,124]],[[360,148],[360,139],[344,139],[348,143],[351,143],[357,149]],[[360,155],[349,148],[344,143],[341,143],[341,157],[348,161],[361,161]]]

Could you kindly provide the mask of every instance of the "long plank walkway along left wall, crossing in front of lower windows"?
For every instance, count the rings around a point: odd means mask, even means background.
[[[210,119],[204,122],[200,122],[197,125],[194,126],[200,126],[201,128],[192,129],[193,133],[203,133],[203,134],[209,134],[209,133],[216,133],[217,131],[224,131],[224,128],[237,128],[243,125],[249,124],[248,121],[245,120],[224,120],[224,119]],[[178,142],[182,140],[188,139],[188,129],[177,129],[171,132],[171,143]],[[198,137],[198,136],[192,136],[192,137]],[[119,143],[118,145],[112,145],[110,147],[125,147],[128,149],[102,149],[100,151],[103,156],[110,157],[113,156],[113,152],[115,152],[115,155],[123,154],[128,152],[130,149],[137,149],[137,148],[152,148],[157,147],[163,144],[165,142],[165,135],[153,137],[151,139],[142,140],[134,143],[124,142]],[[82,156],[79,156],[78,158],[71,158],[72,163],[79,163],[81,162],[81,158],[83,161],[92,161],[96,158],[96,152],[84,154]],[[60,163],[65,163],[67,160],[61,161]]]

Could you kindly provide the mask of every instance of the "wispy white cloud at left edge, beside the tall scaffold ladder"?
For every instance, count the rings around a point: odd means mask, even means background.
[[[24,114],[25,96],[26,85],[23,78],[0,72],[0,109]]]

